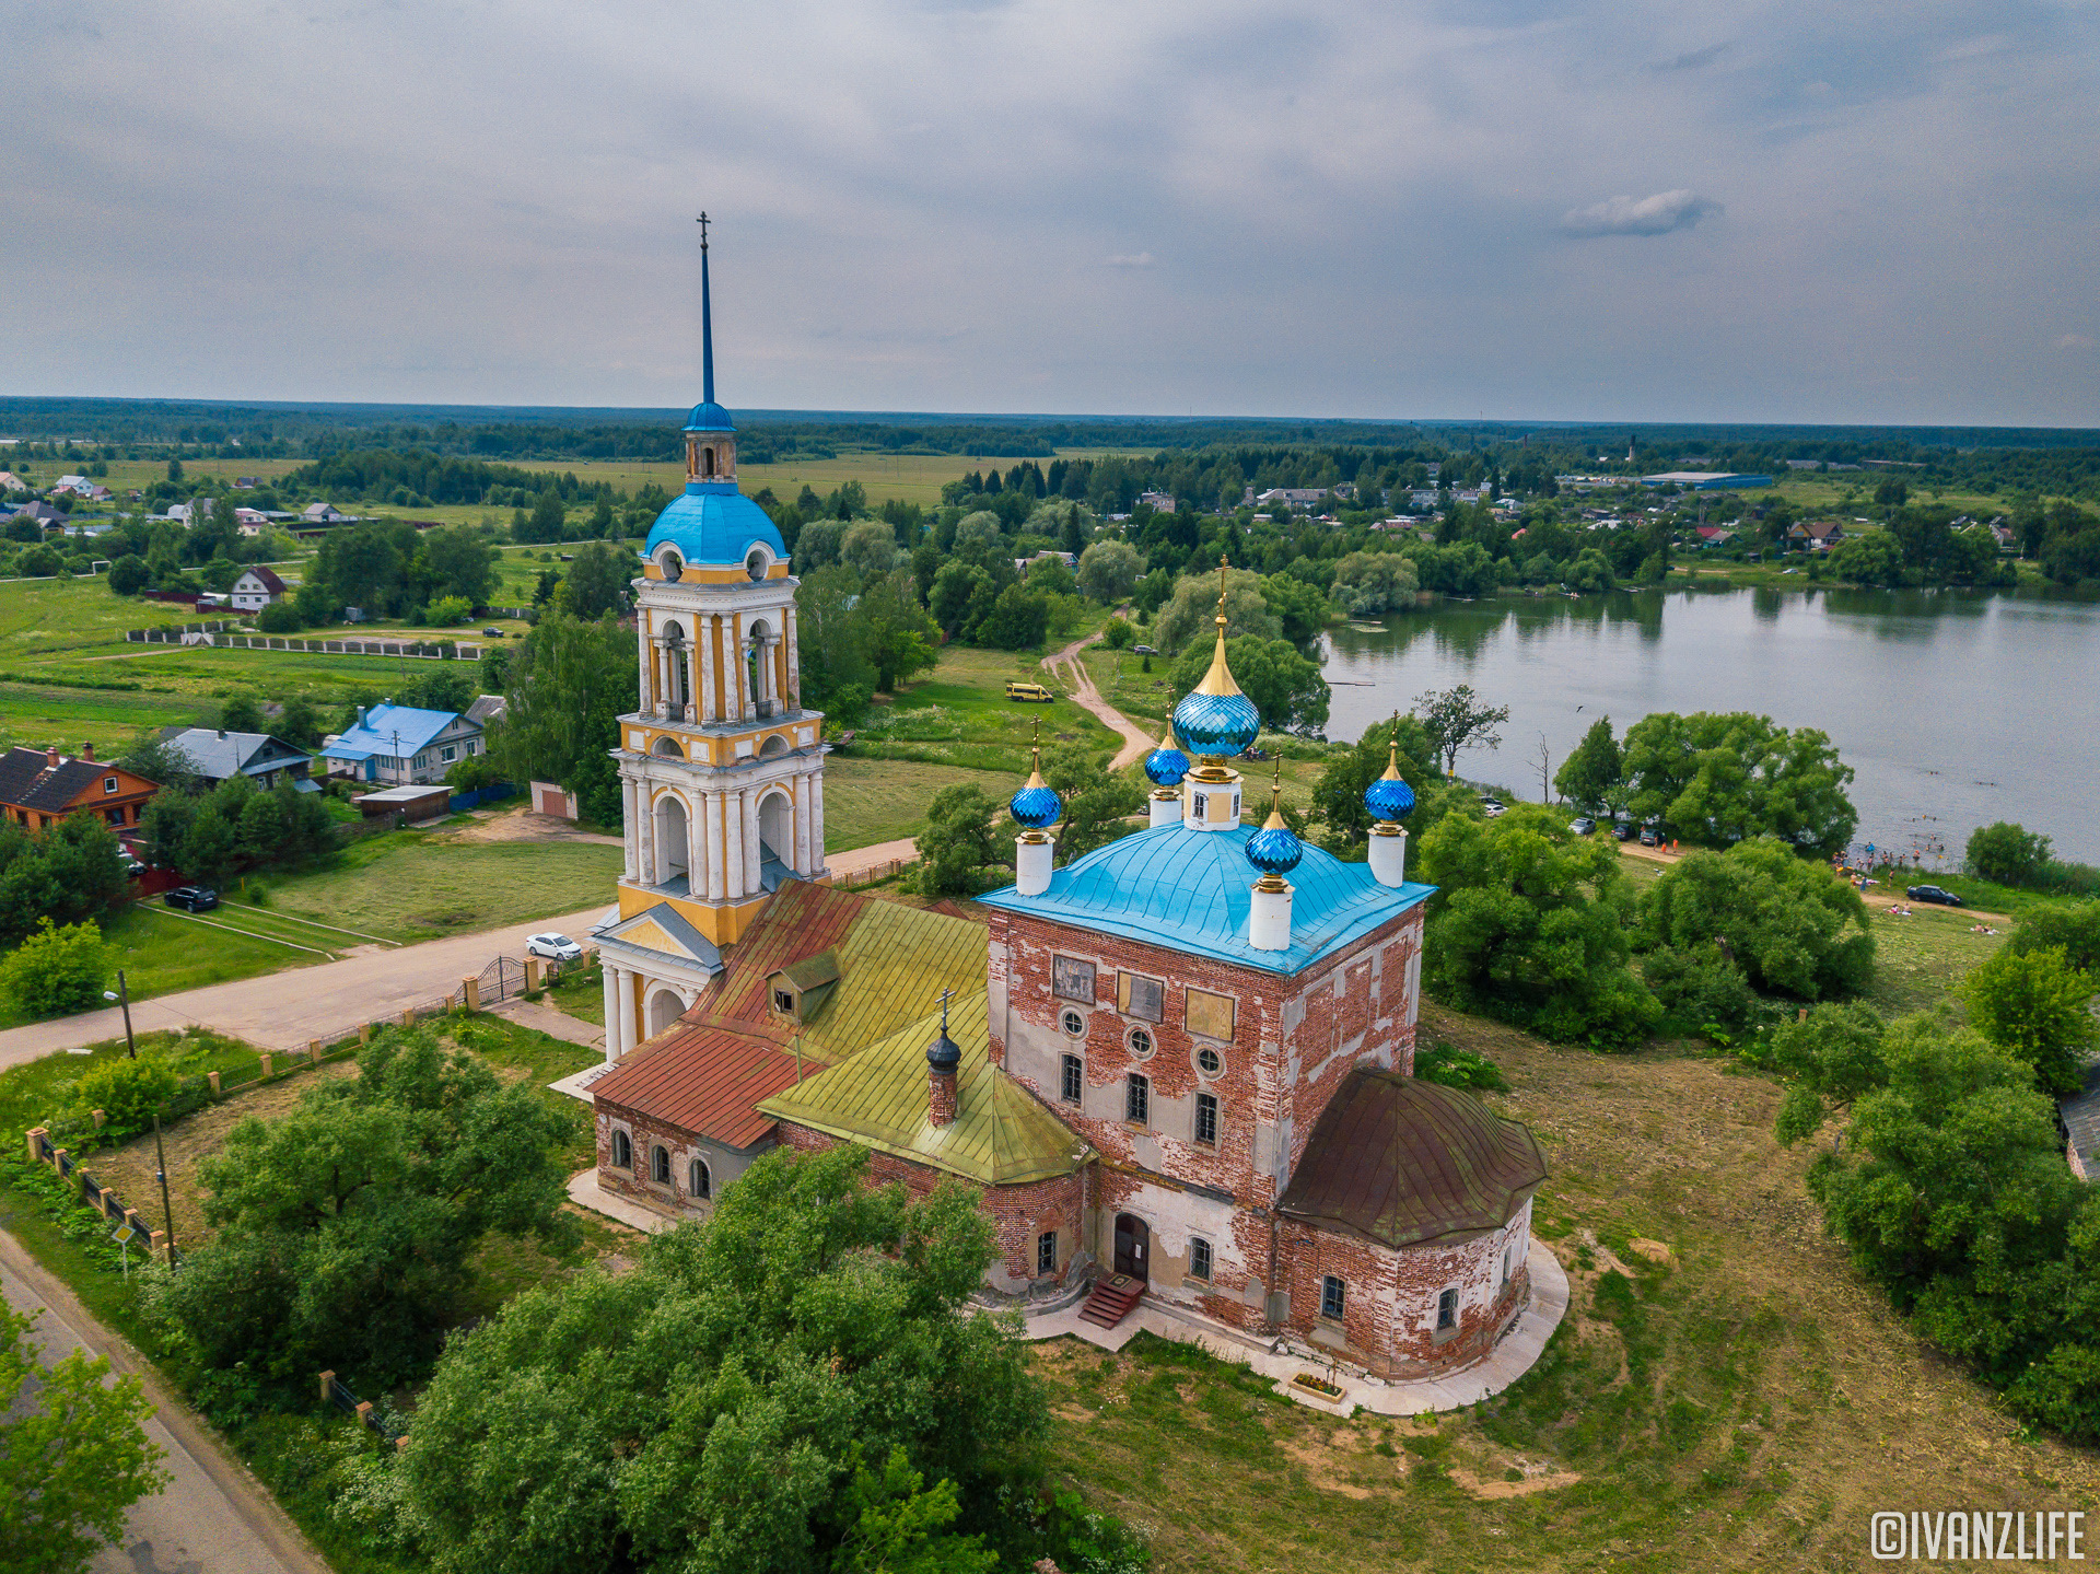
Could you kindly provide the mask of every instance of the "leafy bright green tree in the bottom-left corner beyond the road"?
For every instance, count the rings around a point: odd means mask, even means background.
[[[166,1450],[136,1376],[67,1351],[44,1364],[29,1343],[42,1313],[0,1305],[0,1574],[80,1574],[124,1534],[124,1513],[160,1492]]]

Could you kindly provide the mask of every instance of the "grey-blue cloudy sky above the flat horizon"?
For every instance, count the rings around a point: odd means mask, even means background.
[[[2100,424],[2094,0],[0,0],[0,393]]]

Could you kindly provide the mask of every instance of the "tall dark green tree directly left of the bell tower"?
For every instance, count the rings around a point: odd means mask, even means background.
[[[620,717],[640,706],[634,635],[611,614],[582,622],[544,614],[510,660],[504,725],[489,752],[512,782],[559,782],[601,826],[622,817]],[[456,708],[456,706],[454,706]]]

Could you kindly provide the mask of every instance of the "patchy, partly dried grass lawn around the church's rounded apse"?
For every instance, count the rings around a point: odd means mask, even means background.
[[[1149,1337],[1040,1347],[1060,1471],[1155,1532],[1159,1574],[1854,1568],[1884,1507],[2100,1498],[2092,1452],[2020,1433],[1852,1271],[1772,1082],[1428,1007],[1434,1038],[1495,1059],[1491,1101],[1546,1145],[1567,1322],[1510,1389],[1422,1421],[1317,1414]]]

